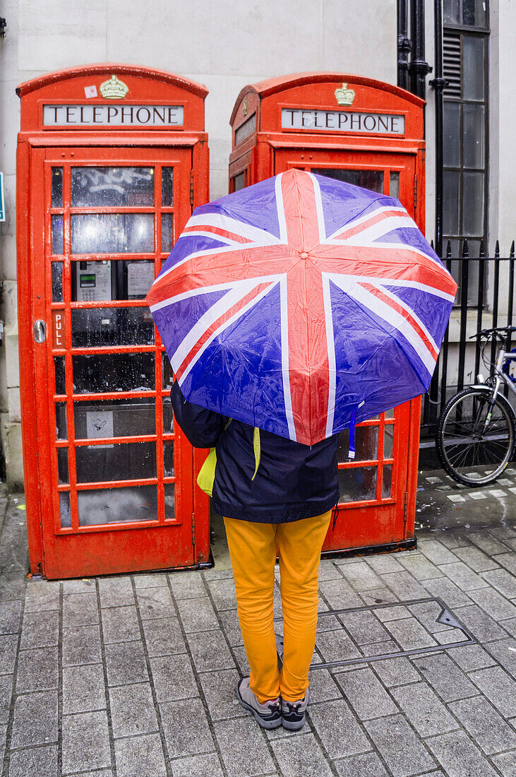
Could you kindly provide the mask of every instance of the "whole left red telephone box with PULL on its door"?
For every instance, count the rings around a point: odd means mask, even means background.
[[[55,578],[206,563],[199,459],[173,424],[170,364],[145,294],[208,200],[207,90],[88,65],[17,92],[30,569]]]

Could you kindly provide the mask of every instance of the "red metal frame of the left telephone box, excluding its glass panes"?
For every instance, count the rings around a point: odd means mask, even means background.
[[[130,86],[128,96],[137,103],[159,100],[160,104],[189,104],[185,124],[179,131],[126,129],[113,134],[102,127],[85,133],[57,128],[52,132],[40,126],[45,102],[84,101],[84,87],[99,84],[109,75],[123,76]],[[154,345],[72,347],[71,312],[81,308],[142,308],[137,301],[71,301],[71,266],[88,259],[118,261],[154,260],[155,273],[168,256],[161,252],[161,212],[174,214],[174,234],[178,235],[194,204],[208,200],[207,138],[203,131],[203,100],[206,89],[193,82],[161,74],[147,68],[88,66],[34,79],[19,87],[22,96],[22,129],[18,152],[18,250],[19,250],[19,347],[22,394],[23,455],[26,479],[29,560],[33,573],[46,577],[76,577],[133,570],[192,566],[208,560],[210,552],[209,504],[196,488],[194,469],[202,454],[193,453],[181,430],[163,432],[162,354],[164,348],[154,329]],[[154,128],[151,128],[154,129]],[[188,134],[185,134],[185,133]],[[71,207],[70,171],[73,166],[151,166],[154,167],[154,207]],[[161,166],[175,167],[173,206],[161,206]],[[53,167],[63,169],[63,207],[50,203],[50,176]],[[80,213],[154,214],[154,251],[137,254],[71,255],[71,215]],[[64,246],[61,256],[51,252],[51,217],[62,214]],[[52,301],[52,263],[63,267],[62,302]],[[54,342],[55,315],[64,318],[64,343]],[[46,343],[35,345],[33,322],[47,322]],[[80,354],[154,354],[152,391],[74,394],[72,358]],[[54,357],[64,357],[64,395],[56,394]],[[102,399],[154,399],[155,434],[131,437],[75,439],[74,402]],[[56,402],[66,402],[67,439],[56,440]],[[163,443],[174,441],[175,476],[165,477]],[[77,483],[75,450],[82,446],[151,442],[156,444],[156,477]],[[58,483],[57,451],[68,450],[69,483]],[[164,486],[175,483],[174,517],[165,515]],[[78,493],[92,489],[125,486],[156,486],[156,521],[79,526]],[[61,528],[60,494],[69,493],[71,527]]]

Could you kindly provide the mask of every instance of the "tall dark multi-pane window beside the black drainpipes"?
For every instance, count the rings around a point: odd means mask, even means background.
[[[487,0],[444,0],[443,237],[487,245]],[[473,280],[473,279],[472,279]]]

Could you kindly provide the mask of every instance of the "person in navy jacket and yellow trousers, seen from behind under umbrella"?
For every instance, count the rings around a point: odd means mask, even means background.
[[[223,516],[238,619],[251,674],[241,706],[266,729],[300,730],[317,629],[320,552],[338,502],[338,435],[303,445],[187,402],[175,382],[175,420],[196,448],[216,448],[212,506]],[[282,660],[273,618],[276,546]]]

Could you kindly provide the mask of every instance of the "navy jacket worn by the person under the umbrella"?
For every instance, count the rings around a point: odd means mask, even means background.
[[[331,510],[338,501],[338,434],[302,445],[260,430],[255,472],[253,427],[187,402],[177,382],[171,390],[175,420],[194,448],[216,448],[212,506],[220,515],[281,524]]]

